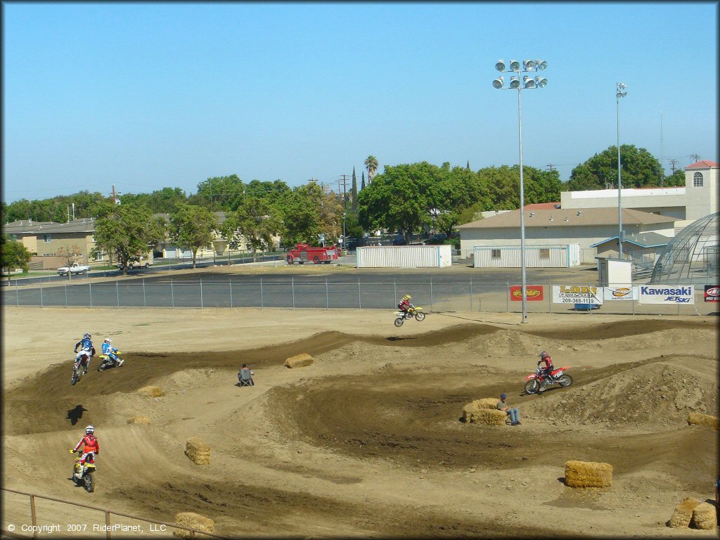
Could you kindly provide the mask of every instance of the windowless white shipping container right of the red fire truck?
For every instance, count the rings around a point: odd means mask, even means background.
[[[366,246],[357,248],[358,268],[444,268],[451,246]]]

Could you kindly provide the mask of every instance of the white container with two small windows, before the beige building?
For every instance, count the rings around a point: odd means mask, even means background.
[[[473,246],[475,268],[520,268],[520,246]],[[571,268],[580,265],[580,244],[525,246],[526,268]]]

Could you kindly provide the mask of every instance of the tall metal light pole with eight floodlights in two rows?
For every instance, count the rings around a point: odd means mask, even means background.
[[[525,183],[523,181],[523,109],[521,106],[521,89],[528,90],[536,88],[545,88],[547,79],[541,76],[524,75],[521,83],[521,73],[535,73],[543,71],[547,68],[545,60],[523,60],[521,64],[518,60],[510,60],[510,69],[505,69],[505,61],[498,60],[495,69],[500,73],[516,73],[510,76],[510,87],[505,88],[505,78],[500,76],[492,81],[492,87],[498,90],[518,90],[518,140],[520,142],[520,266],[523,273],[522,293],[523,293],[523,320],[522,323],[528,322],[528,292],[527,280],[525,272]]]

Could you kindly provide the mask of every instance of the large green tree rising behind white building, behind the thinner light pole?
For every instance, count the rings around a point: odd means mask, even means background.
[[[621,145],[620,161],[622,166],[623,187],[660,186],[662,168],[645,148],[634,145]],[[572,169],[567,189],[605,189],[606,184],[618,185],[618,147],[611,146]]]

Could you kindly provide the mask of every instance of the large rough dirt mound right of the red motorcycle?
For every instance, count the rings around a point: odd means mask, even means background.
[[[589,384],[546,392],[543,400],[528,407],[528,413],[550,415],[566,424],[684,426],[688,413],[716,410],[717,382],[678,364],[683,359],[688,360],[682,356],[651,359],[614,373],[605,369],[603,377]],[[576,383],[582,382],[582,377],[575,377]]]

